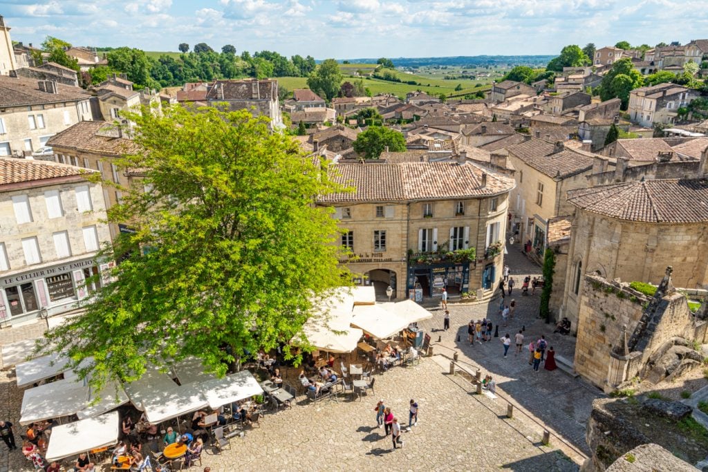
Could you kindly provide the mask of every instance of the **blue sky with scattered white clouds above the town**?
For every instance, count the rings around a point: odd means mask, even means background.
[[[275,50],[290,56],[556,54],[708,37],[708,0],[0,0],[12,39],[176,51]]]

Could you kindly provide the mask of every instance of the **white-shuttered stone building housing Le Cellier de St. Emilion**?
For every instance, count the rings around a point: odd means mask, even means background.
[[[85,172],[0,158],[1,323],[71,311],[113,267],[97,259],[110,236],[101,184]]]

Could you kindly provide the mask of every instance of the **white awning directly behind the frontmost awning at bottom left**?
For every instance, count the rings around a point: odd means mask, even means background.
[[[89,387],[82,381],[62,379],[25,390],[20,424],[76,415],[86,406]]]

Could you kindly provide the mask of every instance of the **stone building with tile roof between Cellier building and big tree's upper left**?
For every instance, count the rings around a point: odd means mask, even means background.
[[[137,175],[116,164],[124,154],[138,151],[135,142],[124,137],[120,127],[104,121],[84,121],[56,134],[48,144],[54,149],[57,162],[98,171],[103,180],[112,184],[103,188],[106,209],[120,202],[125,189],[140,185]],[[111,239],[120,231],[130,229],[125,224],[110,224]]]

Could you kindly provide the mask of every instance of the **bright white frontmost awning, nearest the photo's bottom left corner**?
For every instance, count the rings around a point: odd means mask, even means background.
[[[52,427],[47,461],[58,461],[118,442],[118,412]]]

